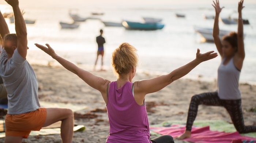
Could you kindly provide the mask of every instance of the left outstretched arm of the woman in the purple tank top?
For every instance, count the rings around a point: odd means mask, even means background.
[[[106,94],[107,84],[110,83],[109,80],[106,80],[104,78],[101,78],[99,76],[91,74],[90,72],[77,67],[75,64],[71,63],[70,61],[65,60],[64,58],[58,56],[54,52],[54,50],[50,47],[49,44],[46,44],[46,46],[48,48],[43,45],[39,45],[39,44],[35,44],[35,45],[38,48],[42,49],[44,52],[46,52],[48,55],[52,56],[53,59],[57,60],[61,65],[63,65],[64,68],[66,68],[69,71],[73,72],[74,74],[78,75],[79,78],[84,80],[84,82],[86,82],[89,86],[100,91],[102,94]],[[104,100],[105,100],[105,98],[104,98]]]

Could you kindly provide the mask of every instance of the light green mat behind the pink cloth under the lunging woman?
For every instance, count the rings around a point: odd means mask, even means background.
[[[162,127],[162,126],[168,126],[171,124],[186,124],[185,121],[177,121],[177,120],[172,120],[172,121],[165,121],[161,124],[156,124],[152,125],[152,127]],[[196,120],[193,124],[193,126],[197,127],[204,127],[204,126],[210,126],[210,130],[213,131],[225,131],[225,132],[235,132],[236,128],[234,127],[233,124],[227,123],[226,121],[223,120]],[[157,133],[150,131],[150,134],[158,135]],[[248,134],[241,134],[245,136],[251,136],[256,138],[256,132],[251,132]]]

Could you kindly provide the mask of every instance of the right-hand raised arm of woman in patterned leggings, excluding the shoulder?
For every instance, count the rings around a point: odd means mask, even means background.
[[[244,24],[242,20],[242,9],[244,0],[241,0],[238,4],[238,31],[237,31],[237,54],[242,60],[245,57],[244,51]]]

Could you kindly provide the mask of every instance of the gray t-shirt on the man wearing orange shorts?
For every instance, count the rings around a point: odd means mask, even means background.
[[[17,49],[8,61],[6,51],[2,50],[0,76],[8,93],[8,114],[22,114],[40,107],[35,72]]]

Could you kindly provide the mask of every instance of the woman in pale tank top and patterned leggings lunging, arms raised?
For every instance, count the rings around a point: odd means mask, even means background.
[[[238,32],[231,32],[219,38],[219,13],[224,7],[219,6],[219,0],[214,1],[216,16],[213,28],[214,43],[221,55],[222,61],[218,68],[218,91],[194,95],[191,98],[186,131],[177,139],[191,136],[191,129],[196,119],[200,104],[209,106],[223,106],[229,113],[231,120],[239,133],[256,132],[256,126],[245,126],[241,107],[241,92],[238,88],[240,71],[245,58],[244,32],[242,9],[244,0],[238,4]]]

